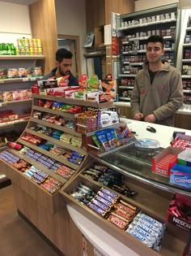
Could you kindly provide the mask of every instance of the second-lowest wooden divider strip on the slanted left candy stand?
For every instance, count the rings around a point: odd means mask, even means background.
[[[69,143],[66,143],[64,141],[59,141],[57,139],[54,139],[53,137],[49,137],[49,136],[47,136],[45,134],[42,134],[40,132],[35,132],[30,128],[26,128],[25,132],[31,133],[31,134],[33,134],[37,137],[45,139],[46,141],[53,142],[53,144],[59,145],[59,146],[64,147],[68,150],[74,150],[76,152],[79,152],[80,154],[86,154],[87,153],[86,150],[83,150],[83,148],[75,147],[74,145],[70,145]]]

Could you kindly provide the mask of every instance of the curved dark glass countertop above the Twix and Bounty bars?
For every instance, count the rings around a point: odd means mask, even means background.
[[[118,150],[101,159],[103,163],[108,163],[126,176],[134,176],[136,179],[152,184],[155,187],[160,187],[160,189],[190,196],[191,189],[171,184],[169,177],[159,176],[151,171],[152,158],[155,154],[159,154],[161,150],[163,148],[158,150],[138,150],[133,144],[129,145],[125,150]]]

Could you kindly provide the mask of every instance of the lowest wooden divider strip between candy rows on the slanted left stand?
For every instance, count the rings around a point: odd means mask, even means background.
[[[31,158],[26,157],[25,155],[19,153],[19,151],[13,150],[11,149],[10,152],[12,154],[17,155],[19,158],[23,159],[24,161],[26,161],[27,163],[32,164],[33,166],[39,168],[41,171],[45,171],[47,174],[49,174],[49,176],[53,176],[55,179],[61,181],[63,184],[66,183],[66,179],[63,178],[62,176],[58,175],[57,173],[54,173],[53,171],[49,171],[49,169],[47,169],[46,167],[44,167],[43,165],[36,163],[36,161],[32,160]],[[16,169],[15,169],[16,170]],[[18,170],[16,170],[18,171]]]

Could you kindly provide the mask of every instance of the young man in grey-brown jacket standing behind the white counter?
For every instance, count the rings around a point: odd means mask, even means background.
[[[174,126],[175,113],[183,104],[183,87],[180,72],[162,61],[163,53],[163,37],[149,37],[147,61],[135,77],[131,106],[134,119]]]

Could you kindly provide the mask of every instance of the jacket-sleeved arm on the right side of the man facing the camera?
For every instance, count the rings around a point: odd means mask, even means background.
[[[173,115],[183,104],[183,87],[180,72],[173,72],[171,80],[171,93],[168,103],[153,112],[158,120]]]

